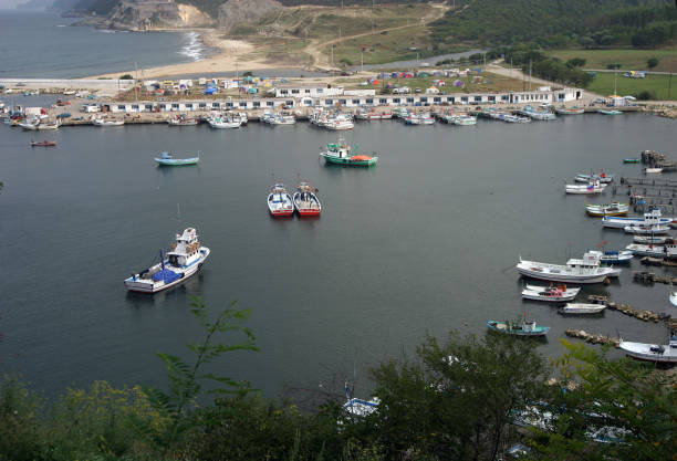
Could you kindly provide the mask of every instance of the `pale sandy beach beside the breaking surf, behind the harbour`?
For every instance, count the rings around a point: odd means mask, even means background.
[[[185,30],[183,31],[186,32]],[[219,72],[235,72],[238,69],[240,71],[257,71],[282,66],[280,63],[271,63],[264,59],[251,60],[246,57],[256,52],[257,46],[242,40],[223,39],[222,31],[210,29],[199,30],[197,32],[200,33],[200,40],[202,40],[207,46],[218,50],[217,54],[195,62],[138,70],[139,78],[159,78],[202,73],[213,74]],[[284,66],[289,67],[290,65]],[[126,69],[115,73],[90,75],[83,78],[118,78],[124,74],[135,75],[136,71],[134,69]]]

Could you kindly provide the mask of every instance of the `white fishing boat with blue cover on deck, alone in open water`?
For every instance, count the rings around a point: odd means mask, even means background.
[[[157,264],[125,279],[125,287],[133,292],[157,293],[178,285],[200,270],[209,252],[200,245],[196,230],[187,228],[176,234],[170,251],[160,251]]]

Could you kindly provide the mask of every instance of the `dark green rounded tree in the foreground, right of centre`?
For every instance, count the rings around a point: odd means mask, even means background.
[[[417,355],[372,370],[381,405],[368,418],[386,459],[496,459],[513,411],[541,397],[546,366],[531,342],[451,334],[442,345],[427,337]]]

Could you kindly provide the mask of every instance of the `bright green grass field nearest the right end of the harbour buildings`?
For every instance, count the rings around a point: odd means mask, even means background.
[[[668,97],[669,75],[649,75],[646,78],[627,78],[622,73],[616,77],[616,93],[619,96],[637,96],[642,92],[649,92],[655,95],[655,99],[677,101],[677,75],[673,76],[670,97]],[[587,86],[589,91],[607,96],[614,93],[613,72],[598,72]]]

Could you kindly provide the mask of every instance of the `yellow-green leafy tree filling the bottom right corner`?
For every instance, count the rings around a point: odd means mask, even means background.
[[[562,340],[558,362],[566,388],[553,386],[548,425],[534,427],[530,444],[548,460],[674,460],[677,378],[628,358]]]

